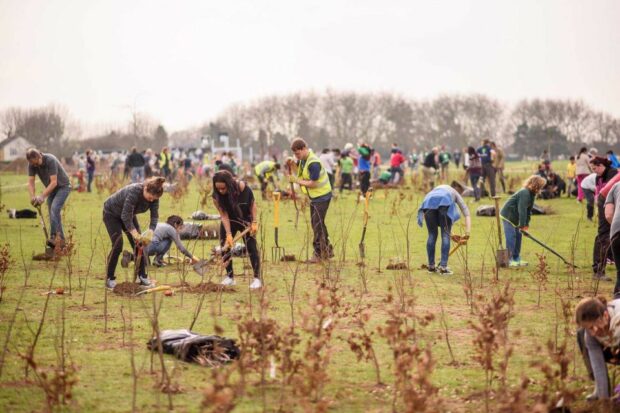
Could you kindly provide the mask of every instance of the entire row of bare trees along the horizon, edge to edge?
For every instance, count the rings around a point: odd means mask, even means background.
[[[133,110],[130,120],[98,136],[81,138],[79,127],[59,106],[9,108],[0,113],[4,137],[22,136],[43,150],[67,154],[75,149],[161,149],[168,133],[147,114]],[[395,93],[327,90],[266,96],[226,108],[202,127],[173,133],[173,144],[198,142],[204,135],[227,133],[255,153],[283,150],[296,136],[315,149],[343,147],[363,140],[386,153],[392,142],[405,150],[435,145],[452,149],[491,139],[510,153],[573,153],[580,146],[615,148],[618,118],[582,101],[521,100],[510,105],[482,95],[442,95],[415,100]],[[190,144],[191,146],[191,144]]]

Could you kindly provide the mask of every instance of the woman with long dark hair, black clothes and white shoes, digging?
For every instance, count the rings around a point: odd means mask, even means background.
[[[213,175],[213,203],[220,212],[220,245],[227,249],[233,247],[233,235],[243,232],[250,226],[250,233],[243,236],[243,242],[250,255],[254,280],[251,289],[263,286],[260,280],[260,256],[256,244],[258,214],[254,193],[243,181],[236,180],[228,171],[218,171]],[[226,277],[222,285],[235,285],[232,259],[226,262]]]

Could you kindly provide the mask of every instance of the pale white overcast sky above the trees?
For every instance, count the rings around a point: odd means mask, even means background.
[[[0,110],[169,131],[326,88],[583,99],[620,116],[620,1],[0,0]]]

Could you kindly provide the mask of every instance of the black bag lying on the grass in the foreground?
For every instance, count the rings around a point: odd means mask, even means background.
[[[202,336],[189,330],[163,330],[160,333],[162,349],[179,360],[198,363],[201,366],[219,366],[236,360],[241,354],[235,340],[220,336]],[[151,351],[157,351],[157,338],[146,343]]]

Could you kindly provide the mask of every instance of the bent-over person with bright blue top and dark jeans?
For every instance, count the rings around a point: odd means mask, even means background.
[[[450,237],[452,225],[460,218],[456,206],[465,217],[465,240],[469,238],[471,231],[471,217],[469,208],[463,197],[449,185],[439,185],[429,192],[422,201],[418,210],[418,225],[422,226],[422,220],[426,222],[428,239],[426,241],[426,254],[428,256],[428,272],[450,275],[448,257],[450,254]],[[435,245],[437,244],[437,228],[441,229],[441,260],[435,268]]]

